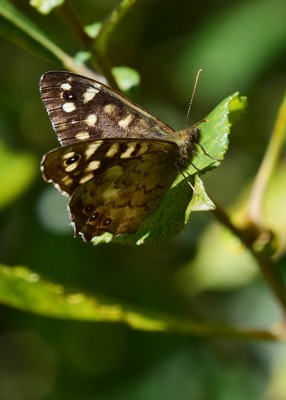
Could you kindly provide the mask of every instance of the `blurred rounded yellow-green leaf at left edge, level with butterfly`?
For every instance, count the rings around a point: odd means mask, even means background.
[[[0,209],[20,196],[37,173],[35,157],[29,153],[12,153],[0,144]]]

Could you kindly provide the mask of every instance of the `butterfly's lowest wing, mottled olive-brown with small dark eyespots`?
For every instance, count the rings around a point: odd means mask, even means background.
[[[80,185],[69,203],[75,234],[86,241],[104,232],[134,233],[159,206],[174,181],[175,152],[154,149],[112,165]],[[174,150],[174,149],[173,149]]]

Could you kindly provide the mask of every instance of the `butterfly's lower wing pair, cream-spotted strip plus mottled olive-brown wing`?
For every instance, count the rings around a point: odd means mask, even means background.
[[[159,205],[177,171],[178,147],[146,139],[106,139],[55,149],[42,161],[44,179],[71,197],[75,234],[136,232]]]

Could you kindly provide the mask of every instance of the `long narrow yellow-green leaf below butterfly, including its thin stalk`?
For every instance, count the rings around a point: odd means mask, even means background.
[[[99,295],[67,291],[63,286],[42,279],[22,266],[10,268],[0,265],[0,303],[44,317],[120,322],[133,329],[149,332],[256,340],[283,339],[283,335],[277,335],[276,331],[240,330],[222,324],[218,326],[208,322],[196,322],[190,318],[173,317],[130,307]]]

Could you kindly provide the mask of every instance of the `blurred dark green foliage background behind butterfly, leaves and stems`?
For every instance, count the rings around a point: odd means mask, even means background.
[[[70,1],[82,25],[101,21],[118,3]],[[62,14],[13,4],[70,55],[81,49]],[[110,43],[113,65],[141,76],[133,100],[176,129],[185,128],[199,68],[191,123],[236,91],[248,97],[225,161],[203,177],[209,195],[232,212],[243,207],[285,93],[285,17],[285,0],[145,0]],[[179,236],[153,245],[93,247],[73,238],[67,201],[39,169],[42,155],[58,144],[38,82],[63,67],[9,26],[1,16],[1,263],[156,312],[242,327],[275,323],[280,309],[253,259],[210,212],[193,213]],[[284,159],[265,208],[282,247],[285,175]],[[283,268],[285,257],[279,263]],[[281,344],[140,332],[0,306],[0,400],[283,400],[285,374]]]

